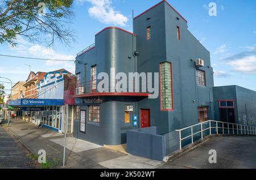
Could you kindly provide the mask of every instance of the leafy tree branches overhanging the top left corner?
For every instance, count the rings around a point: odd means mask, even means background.
[[[17,36],[31,42],[53,45],[55,40],[68,45],[73,38],[69,29],[73,0],[1,0],[0,43],[15,46]]]

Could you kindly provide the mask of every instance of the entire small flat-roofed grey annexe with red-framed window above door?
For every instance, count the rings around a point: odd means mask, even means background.
[[[213,88],[214,117],[218,121],[256,126],[256,92],[237,85]]]

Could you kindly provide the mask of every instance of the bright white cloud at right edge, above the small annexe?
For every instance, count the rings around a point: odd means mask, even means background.
[[[256,55],[250,55],[227,62],[234,71],[256,74]]]

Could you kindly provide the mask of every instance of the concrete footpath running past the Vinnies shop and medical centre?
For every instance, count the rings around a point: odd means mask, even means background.
[[[64,135],[38,128],[36,125],[20,120],[13,120],[8,129],[34,155],[44,149],[47,160],[54,164],[52,168],[61,168],[63,162]],[[162,162],[127,155],[97,144],[68,136],[66,168],[121,168],[121,169],[154,169]]]

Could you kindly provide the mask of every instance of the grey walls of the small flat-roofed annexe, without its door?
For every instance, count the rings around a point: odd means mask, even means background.
[[[227,85],[213,88],[214,117],[221,119],[220,100],[234,100],[236,123],[241,125],[256,126],[256,92],[237,85]]]

